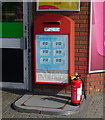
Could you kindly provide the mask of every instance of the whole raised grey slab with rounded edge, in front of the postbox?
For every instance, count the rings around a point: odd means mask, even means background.
[[[13,103],[13,108],[21,112],[49,115],[69,115],[79,111],[79,106],[70,105],[69,95],[24,95]]]

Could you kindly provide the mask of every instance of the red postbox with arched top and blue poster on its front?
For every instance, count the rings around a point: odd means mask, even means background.
[[[34,83],[69,84],[74,74],[74,29],[74,21],[59,14],[34,21]]]

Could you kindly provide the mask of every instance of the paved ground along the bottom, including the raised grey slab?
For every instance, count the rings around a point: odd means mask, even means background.
[[[21,100],[22,97],[24,96],[25,98],[26,96],[27,98],[30,97],[30,100],[31,100],[31,102],[29,102],[30,101],[29,99],[26,99],[26,101],[25,100],[22,101],[25,107],[31,106],[32,108],[32,105],[34,105],[34,110],[31,109],[29,112],[29,110],[27,111],[27,109],[25,109],[26,110],[25,111],[22,108],[20,109],[20,107],[19,109],[16,108],[16,104],[19,105],[20,104],[19,100]],[[58,118],[61,118],[61,119],[103,118],[105,119],[105,116],[104,116],[105,105],[103,104],[104,96],[105,96],[105,93],[91,94],[87,96],[87,99],[83,101],[83,103],[80,106],[71,107],[68,104],[68,101],[69,101],[68,95],[57,94],[56,96],[54,96],[51,94],[46,95],[46,94],[39,94],[39,93],[27,94],[27,91],[5,89],[5,90],[2,90],[2,119],[3,120],[6,118],[7,119],[9,118],[10,120],[12,118],[15,118],[15,120],[16,119],[23,120],[23,118],[25,119],[26,118],[27,119],[50,118],[54,120]],[[33,103],[33,99],[34,100],[36,99],[36,102]],[[49,106],[49,107],[46,108],[46,106],[47,107]],[[48,110],[48,111],[46,112],[45,110]],[[54,112],[52,112],[52,110],[54,110]],[[69,114],[67,113],[62,114],[62,113],[65,113],[65,111],[69,111]]]

